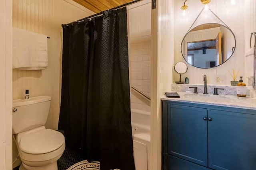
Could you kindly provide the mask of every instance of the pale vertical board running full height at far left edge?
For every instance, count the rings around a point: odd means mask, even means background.
[[[12,169],[12,1],[0,0],[0,169]]]

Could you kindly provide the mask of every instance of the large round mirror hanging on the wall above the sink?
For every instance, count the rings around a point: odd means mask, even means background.
[[[232,30],[218,23],[205,23],[192,28],[183,38],[184,59],[198,68],[212,68],[233,55],[236,38]]]

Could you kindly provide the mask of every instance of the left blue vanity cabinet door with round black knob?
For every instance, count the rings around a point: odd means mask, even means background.
[[[168,154],[207,166],[207,109],[167,106]]]

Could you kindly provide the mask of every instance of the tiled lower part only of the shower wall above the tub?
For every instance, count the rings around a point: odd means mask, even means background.
[[[151,77],[151,36],[136,37],[130,39],[130,80],[131,85],[150,96]],[[150,111],[150,102],[137,92],[132,90],[131,108]]]

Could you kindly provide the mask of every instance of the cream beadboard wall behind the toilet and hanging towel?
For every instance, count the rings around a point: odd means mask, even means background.
[[[48,67],[46,70],[13,70],[13,99],[24,98],[26,89],[30,97],[52,97],[47,128],[57,129],[60,90],[62,38],[61,24],[94,14],[72,0],[13,0],[13,27],[27,29],[50,37],[48,39]]]

